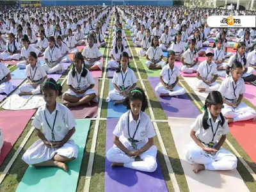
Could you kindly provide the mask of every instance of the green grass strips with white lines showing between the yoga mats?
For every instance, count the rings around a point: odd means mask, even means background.
[[[126,36],[127,36],[127,41],[129,45],[129,51],[132,53],[133,58],[130,60],[130,65],[131,68],[134,70],[136,77],[139,79],[139,76],[137,74],[137,70],[140,73],[141,79],[146,79],[147,80],[147,73],[145,71],[145,68],[142,65],[141,60],[143,58],[140,58],[137,56],[136,50],[134,45],[131,42],[131,32],[125,30]],[[111,51],[111,43],[113,40],[113,31],[109,31],[109,38],[106,39],[106,49],[104,51],[104,66],[106,66],[106,62],[109,60],[108,54]],[[10,67],[10,66],[9,66]],[[15,70],[16,67],[12,67],[11,70]],[[65,75],[61,77],[60,81],[63,81],[65,78]],[[182,78],[181,78],[182,79]],[[105,81],[105,82],[104,82]],[[109,83],[111,79],[100,79],[99,80],[99,94],[101,91],[101,88],[104,89],[103,95],[102,95],[102,108],[101,108],[101,113],[100,113],[100,118],[106,118],[107,117],[107,111],[108,111],[108,103],[106,102],[106,97],[108,96],[108,86],[106,84]],[[104,82],[105,86],[102,86],[102,83]],[[182,81],[182,84],[184,84],[184,87],[186,88],[187,92],[190,93],[192,96],[189,95],[189,99],[192,100],[192,102],[196,105],[196,108],[200,109],[203,106],[203,102],[200,101],[200,99],[195,95],[195,92],[186,84],[185,81]],[[159,104],[156,95],[154,94],[154,91],[152,90],[150,84],[148,81],[138,81],[138,86],[141,88],[145,86],[148,97],[150,99],[150,104],[152,106],[152,112],[154,115],[154,118],[156,120],[167,120],[167,116],[164,114],[163,109],[161,108],[161,105]],[[67,90],[67,84],[63,85],[63,92]],[[195,97],[195,99],[193,99]],[[60,102],[60,98],[58,98],[58,101]],[[253,106],[250,102],[247,100],[244,100],[246,104]],[[3,109],[1,109],[3,110]],[[201,110],[201,109],[200,109]],[[152,114],[150,113],[150,109],[146,110],[146,113],[152,117]],[[92,120],[92,123],[90,125],[90,132],[88,134],[88,139],[86,142],[86,148],[84,150],[84,156],[83,156],[83,161],[81,165],[81,170],[79,173],[79,180],[77,182],[77,191],[83,191],[84,190],[84,184],[85,184],[85,179],[86,179],[86,172],[88,170],[88,161],[89,157],[94,155],[94,160],[93,160],[93,166],[92,166],[92,176],[90,179],[90,188],[87,189],[87,191],[92,191],[92,192],[99,192],[99,191],[104,191],[104,175],[105,175],[105,143],[106,143],[106,120],[100,120],[99,121],[99,127],[95,127],[97,120]],[[159,159],[159,163],[161,166],[161,171],[164,176],[164,180],[166,181],[166,186],[169,191],[173,191],[173,183],[172,180],[170,179],[170,175],[168,172],[168,168],[166,166],[166,159],[164,159],[164,151],[163,148],[161,148],[161,141],[163,141],[164,148],[166,150],[166,153],[168,155],[168,160],[172,164],[173,172],[175,175],[175,178],[177,180],[177,183],[179,185],[180,191],[189,191],[188,189],[188,184],[186,182],[186,178],[184,176],[184,172],[182,170],[182,166],[180,164],[179,160],[179,155],[177,153],[177,150],[175,148],[175,144],[173,141],[173,136],[172,133],[170,132],[170,127],[168,126],[167,122],[157,122],[157,129],[159,130],[160,133],[160,138],[157,139],[157,137],[154,139],[155,145],[158,148],[158,153],[157,153],[157,159]],[[95,153],[91,153],[90,150],[92,149],[92,143],[95,142],[93,140],[93,134],[95,134],[95,129],[99,128],[99,130],[96,132],[97,133],[97,141],[95,145]],[[155,126],[156,128],[156,126]],[[15,154],[15,151],[17,148],[20,146],[20,143],[24,140],[26,134],[29,132],[31,129],[31,120],[29,121],[28,125],[20,135],[19,140],[15,143],[14,147],[12,148],[10,154],[6,157],[4,160],[4,163],[2,164],[0,168],[0,173],[3,173],[4,168],[6,168],[7,164],[9,163],[10,159],[12,158],[13,154]],[[96,129],[97,130],[97,129]],[[244,152],[243,148],[240,147],[240,145],[237,143],[237,141],[233,138],[231,134],[227,135],[228,141],[232,144],[234,148],[236,148],[237,152],[241,155],[242,159],[252,168],[254,172],[256,172],[256,166],[255,163],[253,163],[252,159]],[[17,188],[20,180],[22,179],[22,176],[24,175],[24,172],[26,171],[26,168],[28,168],[28,165],[26,165],[22,160],[21,157],[28,149],[29,146],[31,146],[36,140],[38,140],[37,136],[35,135],[35,132],[31,134],[29,137],[28,142],[20,152],[19,156],[15,160],[15,162],[12,165],[12,168],[10,168],[10,171],[8,172],[8,175],[6,175],[5,179],[3,182],[0,184],[0,191],[3,192],[9,192],[9,191],[15,191]],[[229,145],[227,143],[224,144],[224,147],[227,148],[228,150],[231,150]],[[232,150],[231,150],[232,151]],[[237,170],[243,177],[243,180],[250,189],[250,191],[256,191],[256,182],[253,179],[252,175],[246,170],[244,167],[243,163],[239,160],[238,165],[237,165]],[[240,191],[239,191],[240,192]],[[241,191],[242,192],[242,191]]]

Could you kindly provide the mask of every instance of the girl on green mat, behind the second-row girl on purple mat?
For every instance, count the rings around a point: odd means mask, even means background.
[[[146,52],[146,65],[150,69],[160,69],[166,64],[163,60],[163,51],[159,47],[159,41],[157,36],[154,36],[151,41],[151,47]]]

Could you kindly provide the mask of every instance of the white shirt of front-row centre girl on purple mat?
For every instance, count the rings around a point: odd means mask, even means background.
[[[148,142],[148,138],[153,138],[154,136],[156,136],[156,132],[154,131],[152,122],[146,113],[141,111],[139,118],[136,121],[132,117],[131,110],[129,110],[120,117],[120,119],[118,120],[118,124],[113,131],[113,134],[118,137],[121,143],[127,148],[131,147],[131,142],[129,141],[130,136],[128,133],[128,123],[131,138],[133,137],[134,132],[136,131],[136,127],[139,124],[138,130],[134,135],[134,140],[139,141],[138,143],[136,143],[136,145],[146,144]]]

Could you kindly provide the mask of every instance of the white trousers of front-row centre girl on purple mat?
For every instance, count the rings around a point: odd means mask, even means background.
[[[128,148],[128,150],[132,150],[132,148]],[[120,148],[114,145],[108,150],[106,157],[110,162],[124,163],[124,167],[126,168],[141,172],[154,172],[157,169],[156,155],[157,148],[153,145],[140,155],[142,161],[135,161],[134,158],[127,156]]]

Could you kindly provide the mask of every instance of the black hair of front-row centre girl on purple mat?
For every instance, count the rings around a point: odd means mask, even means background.
[[[137,90],[137,91],[134,91]],[[126,108],[129,110],[131,109],[130,107],[130,102],[131,100],[135,100],[135,99],[139,99],[142,102],[142,106],[141,106],[141,111],[145,111],[145,109],[148,108],[148,102],[147,102],[147,97],[145,95],[145,92],[143,91],[143,89],[136,87],[132,90],[130,90],[129,94],[127,97],[125,97],[125,100],[123,102],[124,106],[126,106]]]

